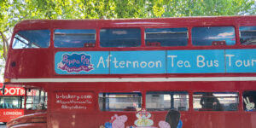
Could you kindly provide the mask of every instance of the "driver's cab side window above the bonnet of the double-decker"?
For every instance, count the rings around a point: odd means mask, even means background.
[[[47,108],[47,92],[44,90],[28,90],[26,94],[26,109]]]

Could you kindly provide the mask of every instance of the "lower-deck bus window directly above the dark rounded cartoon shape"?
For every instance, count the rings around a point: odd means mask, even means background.
[[[184,91],[149,91],[146,94],[148,111],[188,111],[189,94]]]

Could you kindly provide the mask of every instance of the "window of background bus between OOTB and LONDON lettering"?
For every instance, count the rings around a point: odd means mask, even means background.
[[[19,109],[24,108],[23,96],[0,96],[0,108]]]

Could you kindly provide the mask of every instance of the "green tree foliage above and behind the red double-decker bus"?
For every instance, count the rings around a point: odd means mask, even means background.
[[[256,15],[254,0],[0,0],[0,33],[26,19],[117,19]],[[0,36],[0,58],[4,39]],[[8,46],[8,43],[5,43]],[[5,48],[7,49],[7,48]]]

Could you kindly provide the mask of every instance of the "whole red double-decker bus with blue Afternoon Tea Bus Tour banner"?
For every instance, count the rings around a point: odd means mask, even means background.
[[[8,127],[255,128],[256,16],[24,20],[4,79],[46,113]]]

